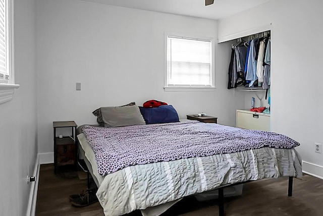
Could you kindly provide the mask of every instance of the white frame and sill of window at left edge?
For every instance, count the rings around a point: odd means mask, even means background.
[[[0,82],[0,104],[12,100],[14,90],[19,88],[15,84],[14,70],[14,0],[6,2],[6,74],[9,75],[8,83]]]

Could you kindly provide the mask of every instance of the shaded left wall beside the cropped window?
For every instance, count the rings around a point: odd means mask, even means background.
[[[0,104],[0,215],[25,215],[37,155],[35,2],[15,0],[15,77],[20,88]]]

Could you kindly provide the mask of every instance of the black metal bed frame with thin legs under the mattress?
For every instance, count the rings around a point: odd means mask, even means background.
[[[90,164],[90,162],[88,161],[88,159],[86,158],[85,156],[85,152],[82,148],[82,146],[80,145],[79,141],[78,141],[78,138],[76,139],[77,141],[77,146],[78,146],[78,164],[79,166],[85,171],[87,172],[87,190],[91,190],[93,188],[90,188],[90,174],[92,176],[92,179],[94,180],[96,186],[98,187],[99,186],[99,183],[98,183],[98,180],[95,178],[95,176],[93,175],[93,170],[92,170],[92,166]],[[84,168],[80,162],[79,162],[79,157],[82,157],[84,162],[85,162],[85,165],[86,165],[86,168]],[[293,178],[292,176],[290,176],[288,178],[288,196],[292,196],[292,193],[293,193]],[[253,180],[254,181],[254,180]],[[234,185],[240,185],[240,184],[245,184],[245,183],[248,183],[248,182],[253,182],[253,181],[246,181],[246,182],[240,182],[240,183],[236,183],[236,184],[230,184],[230,185],[226,185],[226,186],[222,186],[222,187],[219,187],[218,188],[218,191],[219,191],[219,216],[225,216],[225,210],[224,210],[224,188],[226,187],[231,187],[231,186],[234,186]]]

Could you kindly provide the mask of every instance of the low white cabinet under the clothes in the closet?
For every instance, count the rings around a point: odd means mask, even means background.
[[[236,127],[250,130],[270,131],[270,117],[270,114],[237,110]]]

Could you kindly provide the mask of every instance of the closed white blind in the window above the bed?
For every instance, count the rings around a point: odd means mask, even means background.
[[[167,87],[211,87],[210,40],[167,36]]]

